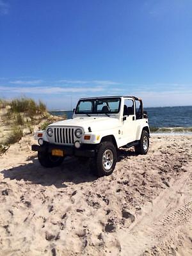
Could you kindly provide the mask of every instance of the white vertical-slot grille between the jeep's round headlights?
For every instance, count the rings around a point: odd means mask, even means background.
[[[74,144],[73,128],[54,128],[54,142]]]

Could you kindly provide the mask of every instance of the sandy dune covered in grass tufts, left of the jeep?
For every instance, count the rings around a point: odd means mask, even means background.
[[[45,130],[52,122],[61,120],[48,113],[42,100],[35,102],[27,97],[0,99],[0,115],[0,156],[26,134],[32,134],[35,129]]]

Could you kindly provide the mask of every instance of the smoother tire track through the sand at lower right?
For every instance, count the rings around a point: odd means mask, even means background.
[[[186,172],[144,205],[141,216],[127,230],[118,230],[122,256],[142,255],[162,243],[174,229],[188,223],[192,216],[192,173]]]

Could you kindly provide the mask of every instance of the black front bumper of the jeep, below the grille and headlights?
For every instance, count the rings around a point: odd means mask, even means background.
[[[92,148],[75,148],[70,146],[61,146],[61,145],[54,145],[51,143],[46,143],[42,146],[40,145],[32,145],[31,150],[33,151],[40,151],[40,152],[47,152],[51,153],[52,149],[60,149],[63,150],[64,156],[83,156],[83,157],[94,157],[95,156],[95,149]]]

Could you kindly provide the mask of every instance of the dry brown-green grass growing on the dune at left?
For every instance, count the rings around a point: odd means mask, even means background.
[[[24,129],[34,131],[34,127],[48,115],[45,104],[39,100],[20,97],[13,100],[0,99],[0,108],[6,108],[1,116],[3,124],[11,130],[4,143],[0,143],[0,156],[8,150],[11,144],[17,143],[24,135]]]

